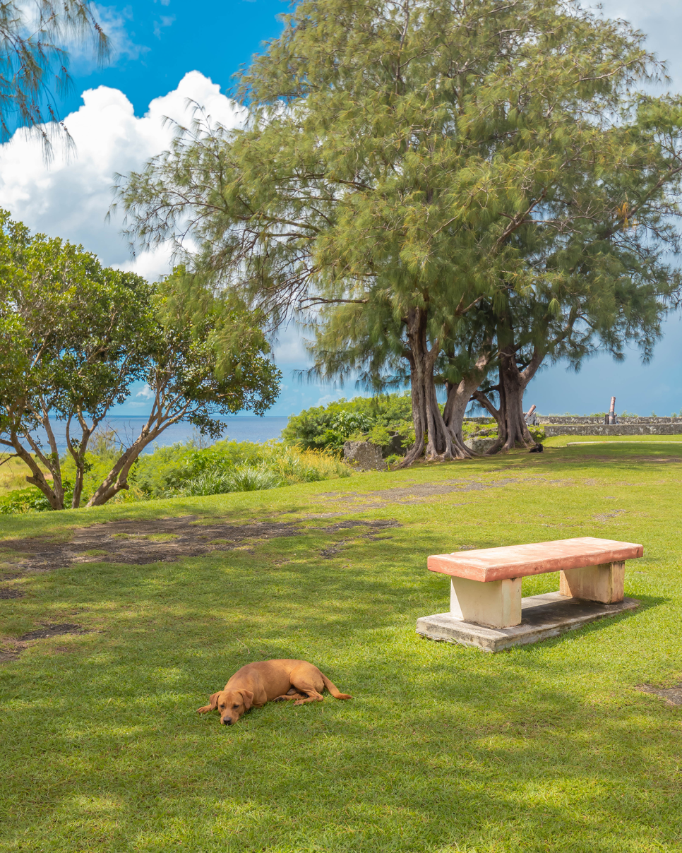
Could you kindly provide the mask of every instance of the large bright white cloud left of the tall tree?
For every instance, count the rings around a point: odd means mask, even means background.
[[[119,234],[121,220],[105,221],[113,175],[139,170],[168,148],[173,128],[164,126],[164,118],[187,124],[188,100],[227,127],[239,125],[240,107],[197,71],[185,74],[175,90],[154,98],[142,118],[118,89],[100,86],[82,97],[84,105],[65,119],[76,144],[69,160],[57,154],[46,166],[41,142],[25,130],[0,146],[0,206],[33,231],[82,243],[105,264],[154,279],[169,269],[169,252],[161,249],[131,259]]]

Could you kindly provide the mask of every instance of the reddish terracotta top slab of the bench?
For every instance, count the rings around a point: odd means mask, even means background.
[[[505,548],[433,554],[429,557],[427,567],[431,572],[468,577],[473,581],[500,581],[510,577],[565,572],[567,569],[579,569],[583,566],[633,560],[642,554],[642,545],[586,536],[532,545],[508,545]]]

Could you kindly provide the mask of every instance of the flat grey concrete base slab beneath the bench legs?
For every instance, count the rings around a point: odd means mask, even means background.
[[[637,607],[639,601],[636,598],[604,604],[550,592],[521,599],[521,624],[510,628],[485,628],[483,625],[465,622],[454,613],[436,613],[417,619],[417,633],[431,640],[476,646],[484,652],[500,652],[505,648],[546,640],[564,631],[581,628],[588,622],[617,616],[618,613],[636,610]]]

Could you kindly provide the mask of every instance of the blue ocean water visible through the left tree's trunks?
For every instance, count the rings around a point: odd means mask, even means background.
[[[234,415],[234,417],[226,418],[228,425],[223,433],[223,438],[228,438],[230,441],[254,441],[263,443],[271,438],[280,438],[280,432],[286,427],[287,417],[276,417],[265,415],[262,418],[257,415]],[[107,418],[106,426],[113,428],[118,433],[118,438],[122,444],[130,444],[142,430],[147,418],[142,415],[131,415],[130,417],[110,417]],[[63,422],[55,421],[53,424],[55,439],[60,453],[66,450],[66,431]],[[43,442],[43,446],[47,447],[47,437],[43,431],[38,431],[38,438]],[[198,443],[201,441],[199,432],[192,424],[176,423],[171,427],[167,427],[164,432],[159,435],[156,442],[148,444],[145,453],[153,453],[154,446],[165,447],[168,444],[184,444],[194,438]],[[210,438],[204,438],[205,444],[211,444]]]

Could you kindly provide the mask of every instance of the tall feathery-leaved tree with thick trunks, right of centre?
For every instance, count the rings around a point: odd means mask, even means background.
[[[243,128],[199,114],[120,183],[133,240],[191,235],[197,281],[307,316],[322,375],[408,377],[405,464],[469,454],[492,368],[511,447],[544,358],[650,348],[680,106],[638,90],[638,32],[562,0],[304,0],[284,21],[240,78]]]

